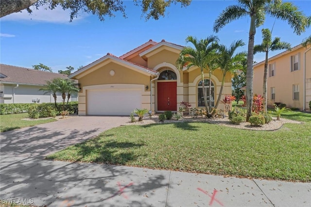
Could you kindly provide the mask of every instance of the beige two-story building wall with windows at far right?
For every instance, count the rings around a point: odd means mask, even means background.
[[[311,100],[311,52],[304,55],[306,48],[297,46],[292,51],[285,51],[272,57],[268,61],[267,105],[273,107],[275,102],[285,103],[287,108],[303,109],[304,81],[306,80],[306,109]],[[292,71],[292,57],[298,56],[298,70]],[[306,61],[306,77],[304,80],[304,63]],[[269,65],[274,65],[275,75],[270,77]],[[254,65],[253,93],[263,94],[264,62]],[[310,83],[309,83],[310,80]],[[294,85],[299,87],[299,99],[294,99]],[[275,88],[275,99],[271,97],[271,88]],[[310,95],[308,95],[310,94]],[[309,97],[310,96],[310,97]]]

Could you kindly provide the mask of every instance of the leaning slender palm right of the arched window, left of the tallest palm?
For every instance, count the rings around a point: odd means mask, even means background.
[[[223,72],[222,85],[219,90],[219,95],[217,98],[217,102],[215,108],[218,107],[218,104],[221,100],[221,96],[223,94],[223,88],[225,84],[225,75],[229,73],[235,73],[237,70],[242,69],[242,61],[245,59],[246,52],[236,53],[236,50],[245,43],[242,40],[235,41],[231,44],[229,48],[226,48],[224,45],[220,45],[218,48],[219,58],[217,59],[218,65]]]

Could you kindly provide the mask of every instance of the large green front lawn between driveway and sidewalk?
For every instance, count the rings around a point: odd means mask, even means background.
[[[305,123],[276,131],[198,122],[121,126],[47,159],[311,181],[311,114],[285,114]]]

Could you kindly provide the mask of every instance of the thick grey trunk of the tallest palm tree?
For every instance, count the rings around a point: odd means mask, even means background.
[[[247,71],[246,71],[246,121],[252,116],[253,106],[253,62],[254,62],[254,40],[256,33],[256,14],[251,16],[251,25],[248,36],[248,51],[247,51]]]

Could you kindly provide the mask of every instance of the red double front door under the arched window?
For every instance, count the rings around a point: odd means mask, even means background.
[[[157,110],[177,111],[177,82],[157,82]]]

